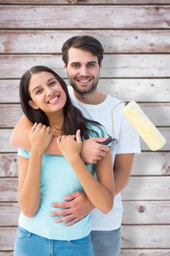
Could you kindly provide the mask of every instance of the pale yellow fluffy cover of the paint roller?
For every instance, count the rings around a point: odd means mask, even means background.
[[[158,150],[166,143],[166,139],[161,135],[161,132],[152,124],[152,121],[136,102],[129,102],[123,108],[123,114],[152,151]]]

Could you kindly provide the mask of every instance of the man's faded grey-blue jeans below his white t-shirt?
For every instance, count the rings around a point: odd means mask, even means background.
[[[94,256],[119,256],[121,247],[121,229],[112,231],[92,231],[91,240]]]

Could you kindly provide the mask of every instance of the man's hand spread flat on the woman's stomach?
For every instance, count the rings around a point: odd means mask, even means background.
[[[86,215],[93,210],[94,206],[88,200],[85,193],[80,191],[74,192],[63,198],[68,202],[53,203],[52,206],[55,208],[64,208],[60,211],[53,211],[50,213],[51,216],[64,215],[62,218],[55,219],[55,222],[66,222],[66,226],[71,226],[74,223],[80,221]]]

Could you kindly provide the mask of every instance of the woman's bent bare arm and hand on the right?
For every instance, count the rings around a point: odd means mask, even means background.
[[[70,165],[72,165],[90,202],[98,210],[107,214],[112,209],[114,197],[111,152],[108,151],[107,155],[96,165],[96,175],[98,178],[96,180],[80,157],[80,133],[77,132],[76,136],[77,141],[73,140],[70,136],[58,138],[58,148]]]

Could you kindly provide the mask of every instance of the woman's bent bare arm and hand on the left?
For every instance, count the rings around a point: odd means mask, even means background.
[[[19,205],[23,214],[33,217],[41,200],[42,155],[52,139],[50,127],[38,124],[31,133],[31,156],[18,157]]]

